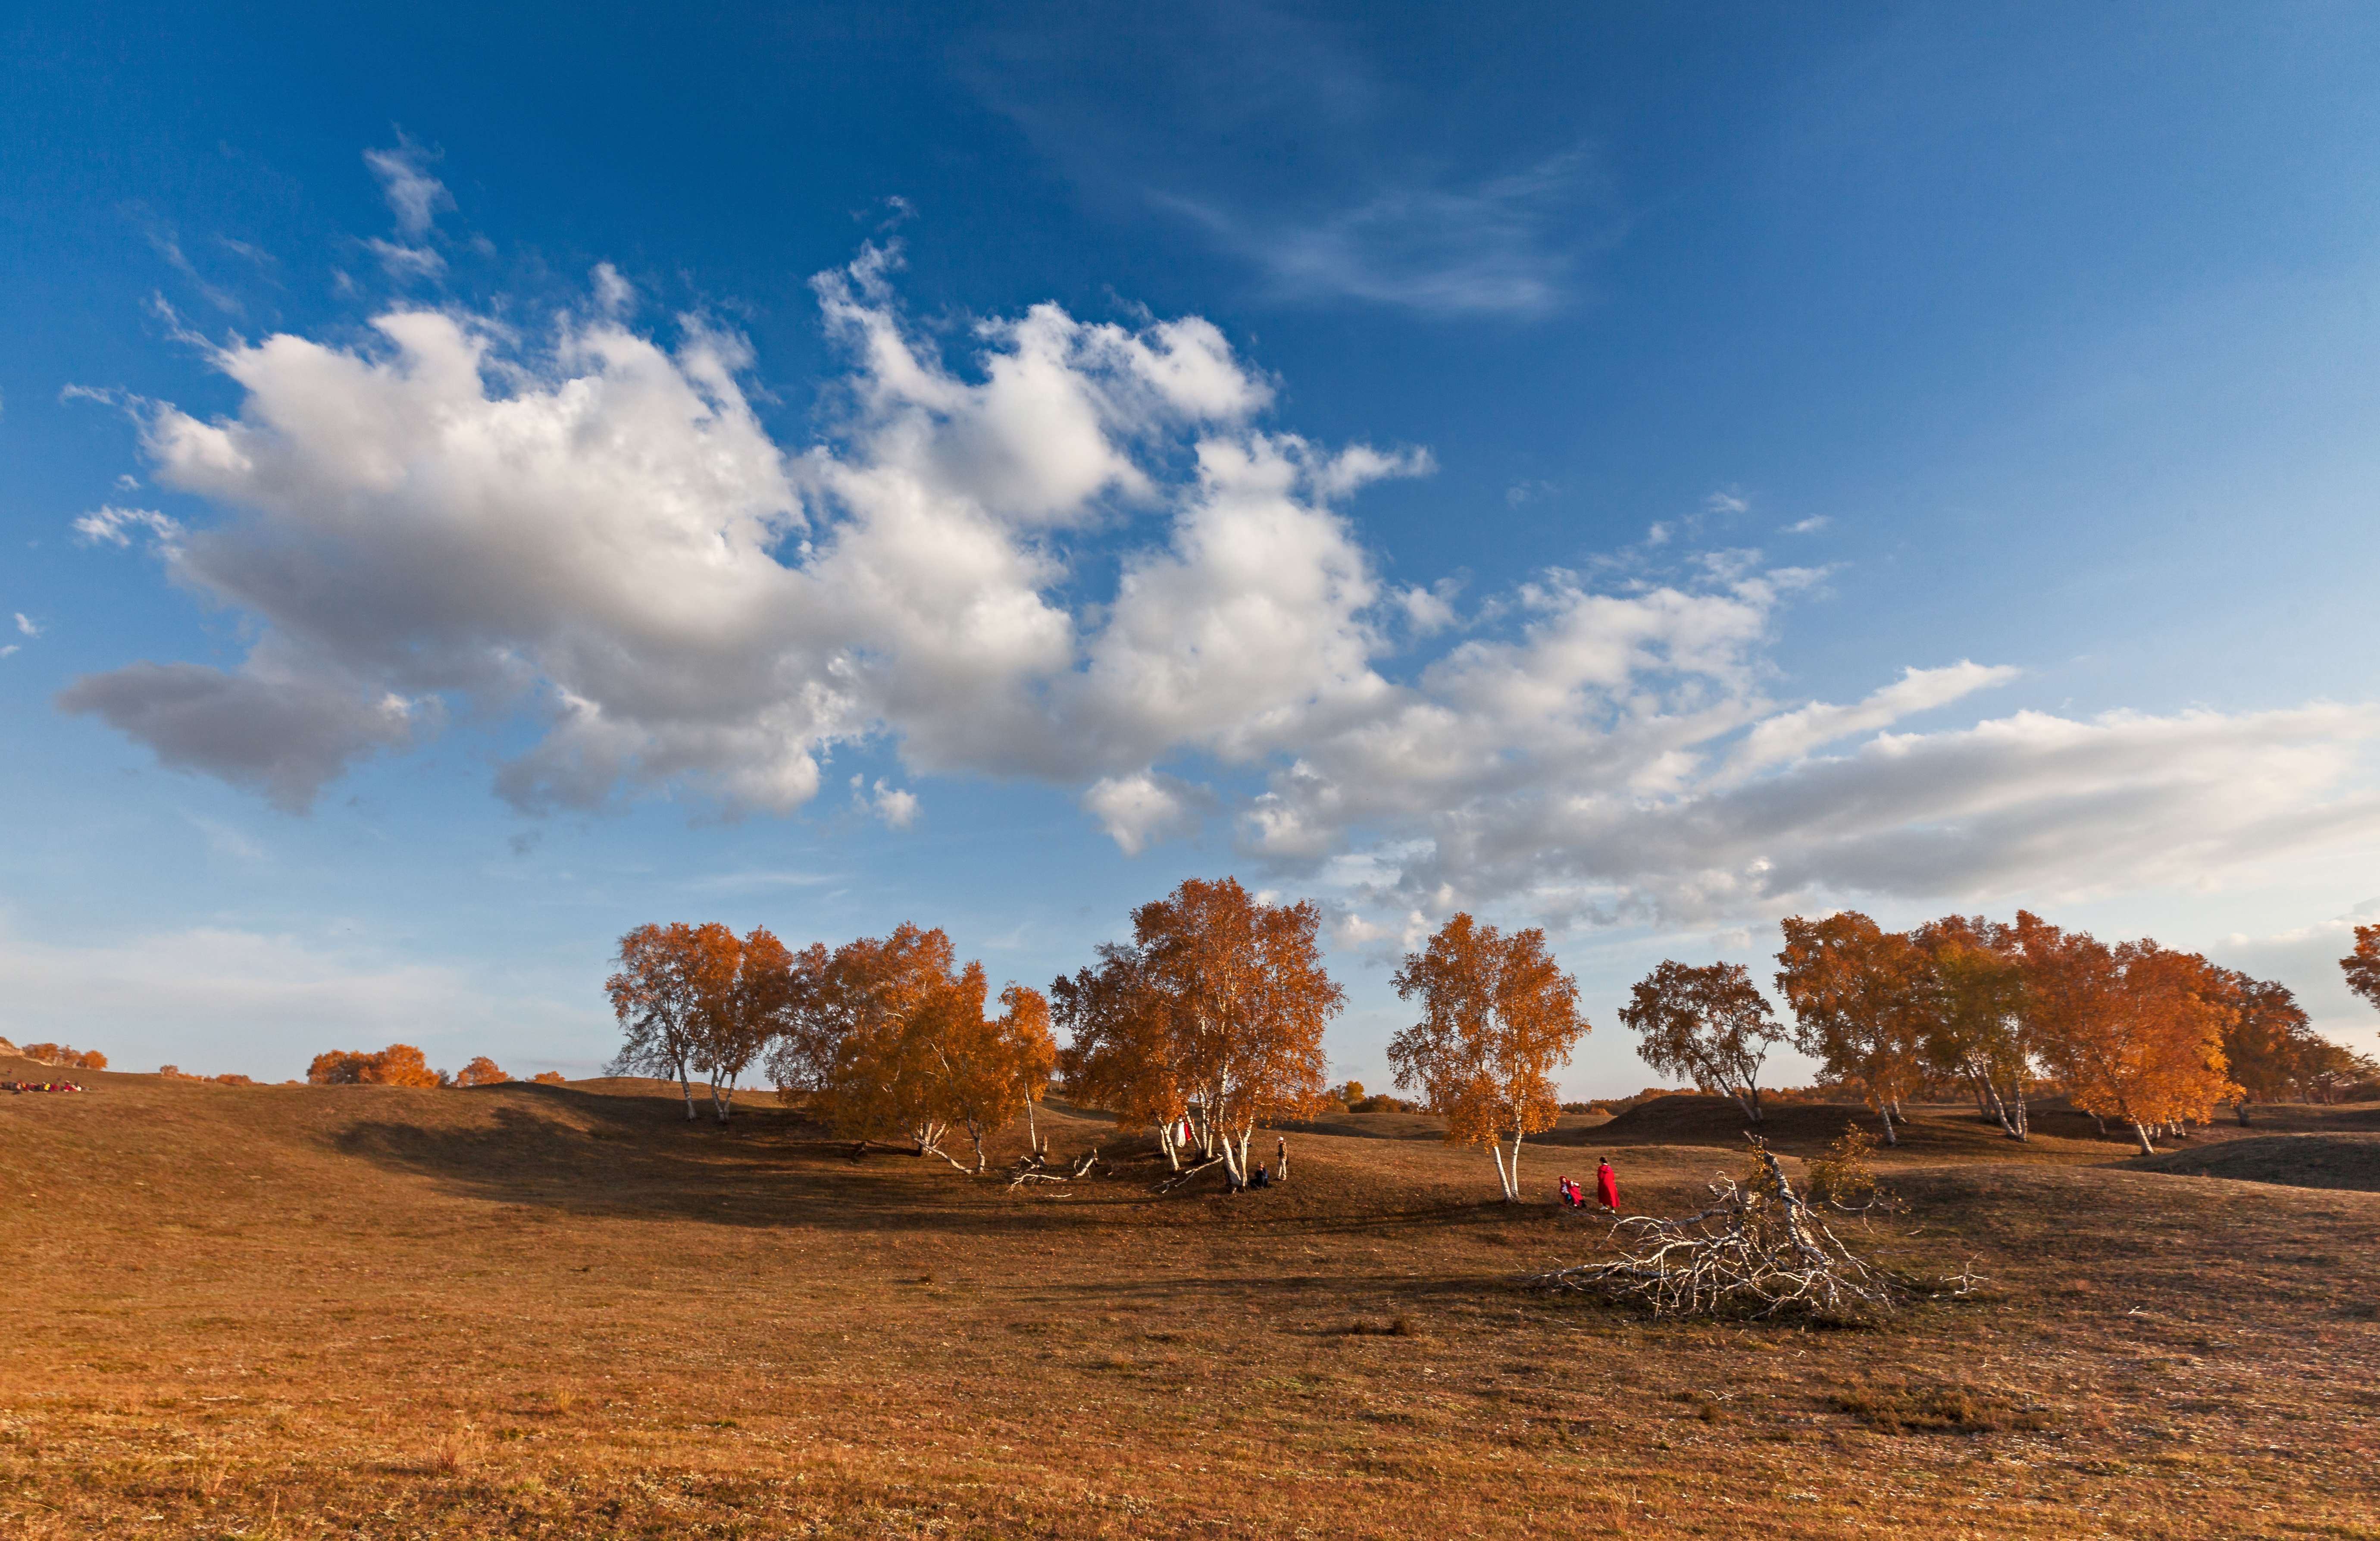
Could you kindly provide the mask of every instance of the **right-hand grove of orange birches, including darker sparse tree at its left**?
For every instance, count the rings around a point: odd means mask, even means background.
[[[2156,1129],[2206,1119],[2225,1100],[2247,1122],[2256,1100],[2380,1074],[2316,1034],[2287,986],[2154,941],[2111,946],[2023,910],[2013,922],[1952,915],[1911,931],[1847,910],[1783,929],[1775,988],[1792,1027],[1730,962],[1664,962],[1621,1010],[1649,1065],[1735,1098],[1752,1122],[1761,1062],[1787,1038],[1825,1079],[1859,1088],[1887,1138],[1904,1103],[1964,1088],[2021,1141],[2028,1091],[2047,1079],[2102,1124],[2130,1124],[2149,1150]],[[2380,950],[2380,927],[2370,931]],[[2342,965],[2356,984],[2356,957]]]

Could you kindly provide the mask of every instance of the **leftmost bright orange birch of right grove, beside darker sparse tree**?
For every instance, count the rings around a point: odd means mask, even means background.
[[[1778,993],[1795,1012],[1795,1048],[1835,1079],[1859,1079],[1885,1119],[1885,1143],[1902,1098],[1923,1079],[1918,1060],[1918,988],[1923,955],[1856,910],[1825,919],[1780,922]]]

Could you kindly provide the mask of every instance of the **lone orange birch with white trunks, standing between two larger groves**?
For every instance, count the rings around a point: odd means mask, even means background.
[[[1488,1146],[1504,1200],[1518,1203],[1521,1141],[1561,1117],[1552,1072],[1587,1031],[1578,981],[1554,965],[1545,931],[1504,936],[1457,915],[1390,984],[1421,1005],[1421,1022],[1388,1046],[1397,1086],[1447,1119],[1449,1146]]]

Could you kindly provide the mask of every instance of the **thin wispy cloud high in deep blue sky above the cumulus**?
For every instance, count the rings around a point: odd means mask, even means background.
[[[1626,233],[1592,145],[1430,131],[1459,110],[1383,81],[1319,17],[1159,7],[1090,36],[1012,17],[976,40],[976,86],[1083,186],[1202,231],[1276,302],[1533,317]]]

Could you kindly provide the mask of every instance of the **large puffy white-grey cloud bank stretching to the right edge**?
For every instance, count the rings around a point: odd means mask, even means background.
[[[607,267],[536,341],[397,307],[374,345],[217,350],[238,414],[155,407],[145,443],[224,517],[76,531],[148,531],[259,641],[62,703],[283,807],[459,715],[536,722],[497,774],[531,810],[678,786],[790,812],[833,745],[881,738],[912,774],[1064,786],[1128,853],[1221,819],[1364,907],[1347,938],[1454,903],[1709,922],[2192,884],[2380,838],[2373,707],[1909,731],[2013,679],[1966,660],[1778,698],[1775,629],[1821,574],[1759,553],[1616,586],[1545,569],[1459,622],[1454,579],[1388,584],[1345,512],[1426,453],[1266,426],[1273,383],[1200,317],[1035,305],[947,360],[895,269],[866,248],[816,281],[850,367],[793,450],[743,343],[633,331]],[[890,826],[919,810],[890,779],[854,798]]]

